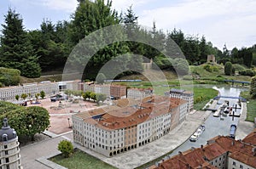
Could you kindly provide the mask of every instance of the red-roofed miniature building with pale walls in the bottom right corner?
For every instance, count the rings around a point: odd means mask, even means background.
[[[157,162],[149,169],[254,169],[256,168],[256,147],[250,141],[255,143],[253,138],[255,133],[255,131],[250,133],[242,141],[224,136],[212,138],[207,141],[207,145],[201,145],[201,148],[179,152],[178,155],[168,157],[169,159],[160,163]]]

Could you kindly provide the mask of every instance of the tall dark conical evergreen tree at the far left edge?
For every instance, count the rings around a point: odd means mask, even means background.
[[[34,54],[32,44],[24,31],[20,14],[9,8],[4,17],[0,66],[18,69],[21,76],[40,76],[38,57]]]

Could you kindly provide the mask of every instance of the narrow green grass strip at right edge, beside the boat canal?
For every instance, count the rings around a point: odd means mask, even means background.
[[[246,121],[254,121],[254,118],[256,117],[256,99],[252,99],[250,96],[249,91],[242,92],[241,94],[242,98],[245,98],[248,100],[247,102],[247,119]]]

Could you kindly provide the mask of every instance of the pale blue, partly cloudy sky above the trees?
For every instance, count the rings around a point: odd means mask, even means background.
[[[43,20],[70,20],[77,0],[1,0],[0,23],[8,8],[23,19],[26,30],[40,28]],[[138,24],[185,35],[205,36],[213,46],[223,49],[251,47],[256,44],[255,0],[113,0],[119,13],[132,5]],[[2,27],[1,27],[2,29]]]

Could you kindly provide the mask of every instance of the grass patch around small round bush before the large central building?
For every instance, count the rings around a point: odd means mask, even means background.
[[[61,166],[72,169],[115,169],[115,167],[110,166],[107,163],[100,161],[96,157],[88,155],[79,149],[76,149],[70,158],[64,158],[62,155],[56,155],[49,160]]]

